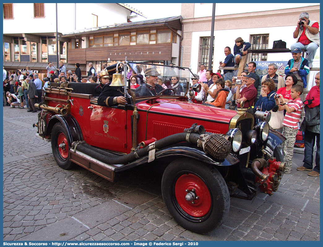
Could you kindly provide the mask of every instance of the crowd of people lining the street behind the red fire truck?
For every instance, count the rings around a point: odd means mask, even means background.
[[[240,76],[234,76],[237,70],[234,72],[229,67],[238,68],[243,56],[251,47],[250,43],[238,37],[235,39],[234,54],[231,53],[229,46],[224,48],[225,59],[223,62],[219,61],[219,66],[224,68],[223,75],[221,75],[221,70],[214,73],[213,70],[206,69],[206,66],[201,64],[200,70],[190,78],[193,86],[201,84],[201,91],[186,96],[192,103],[205,103],[226,109],[254,108],[264,112],[271,111],[278,106],[278,110],[284,115],[284,120],[275,126],[279,126],[276,130],[287,137],[287,141],[282,145],[287,162],[286,173],[290,173],[291,170],[292,149],[299,129],[301,111],[305,105],[306,115],[303,121],[304,126],[302,126],[305,131],[306,155],[304,165],[298,167],[297,170],[312,170],[312,152],[316,139],[318,149],[316,166],[308,175],[319,176],[319,73],[315,77],[316,86],[307,95],[306,103],[302,102],[303,90],[307,87],[307,75],[319,46],[318,22],[310,21],[308,13],[301,13],[293,37],[297,38],[297,43],[291,46],[293,58],[288,61],[285,68],[285,80],[276,74],[277,65],[274,63],[268,65],[268,74],[264,75],[261,81],[255,73],[255,62],[249,62],[248,70],[242,71]],[[307,59],[302,57],[302,49],[307,51]],[[165,90],[169,90],[171,95],[184,96],[185,90],[173,69],[173,64],[170,65],[163,76],[155,68],[147,68],[146,64],[141,64],[132,69],[128,68],[126,75],[122,72],[122,77],[127,77],[130,89],[133,89],[137,96],[157,95]],[[35,103],[42,102],[43,91],[46,90],[49,82],[97,83],[93,96],[99,97],[103,88],[106,88],[105,86],[112,81],[110,73],[112,70],[105,64],[102,64],[101,71],[97,72],[92,63],[88,66],[87,75],[81,75],[79,63],[75,64],[75,71],[72,72],[66,70],[63,61],[59,61],[58,68],[48,62],[47,74],[43,80],[40,80],[38,74],[33,73],[29,67],[26,67],[25,72],[9,70],[7,73],[4,69],[3,82],[6,98],[4,106],[28,108],[27,112],[33,113],[41,110],[36,109]],[[108,97],[108,94],[105,96]],[[124,102],[124,99],[113,101],[111,105],[119,102]],[[108,105],[106,102],[105,104]],[[277,120],[274,121],[277,122]]]

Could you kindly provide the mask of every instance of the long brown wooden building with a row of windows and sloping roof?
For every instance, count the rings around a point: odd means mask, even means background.
[[[94,27],[65,33],[70,38],[68,63],[102,64],[117,61],[153,61],[179,64],[182,38],[181,16]],[[76,38],[82,47],[76,47]]]

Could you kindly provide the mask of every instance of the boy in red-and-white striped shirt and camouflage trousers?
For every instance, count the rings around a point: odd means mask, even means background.
[[[282,143],[282,150],[284,156],[284,161],[286,162],[285,172],[290,174],[292,170],[293,152],[294,144],[296,141],[296,134],[298,131],[298,122],[301,118],[301,113],[303,109],[303,102],[300,99],[300,95],[303,93],[303,87],[300,85],[292,86],[290,90],[291,101],[287,102],[283,95],[278,94],[283,104],[279,105],[279,111],[286,110],[286,115],[283,121],[283,135],[287,138],[286,141]],[[275,96],[276,104],[279,104],[278,98]]]

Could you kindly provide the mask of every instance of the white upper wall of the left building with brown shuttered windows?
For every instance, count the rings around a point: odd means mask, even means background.
[[[56,4],[45,3],[45,18],[34,18],[34,4],[13,3],[14,19],[3,20],[3,33],[54,33],[56,32]],[[76,11],[74,11],[76,9]],[[74,31],[74,12],[76,14],[76,30],[93,27],[93,16],[98,16],[98,26],[109,26],[126,23],[130,11],[113,3],[58,3],[58,32]]]

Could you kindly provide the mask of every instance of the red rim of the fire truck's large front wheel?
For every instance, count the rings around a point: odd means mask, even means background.
[[[185,196],[187,194],[186,189],[192,191],[195,189],[196,196],[199,199],[187,201]],[[211,209],[211,195],[204,181],[194,174],[183,174],[180,176],[175,184],[175,197],[182,208],[182,210],[188,215],[196,218],[205,216]]]

